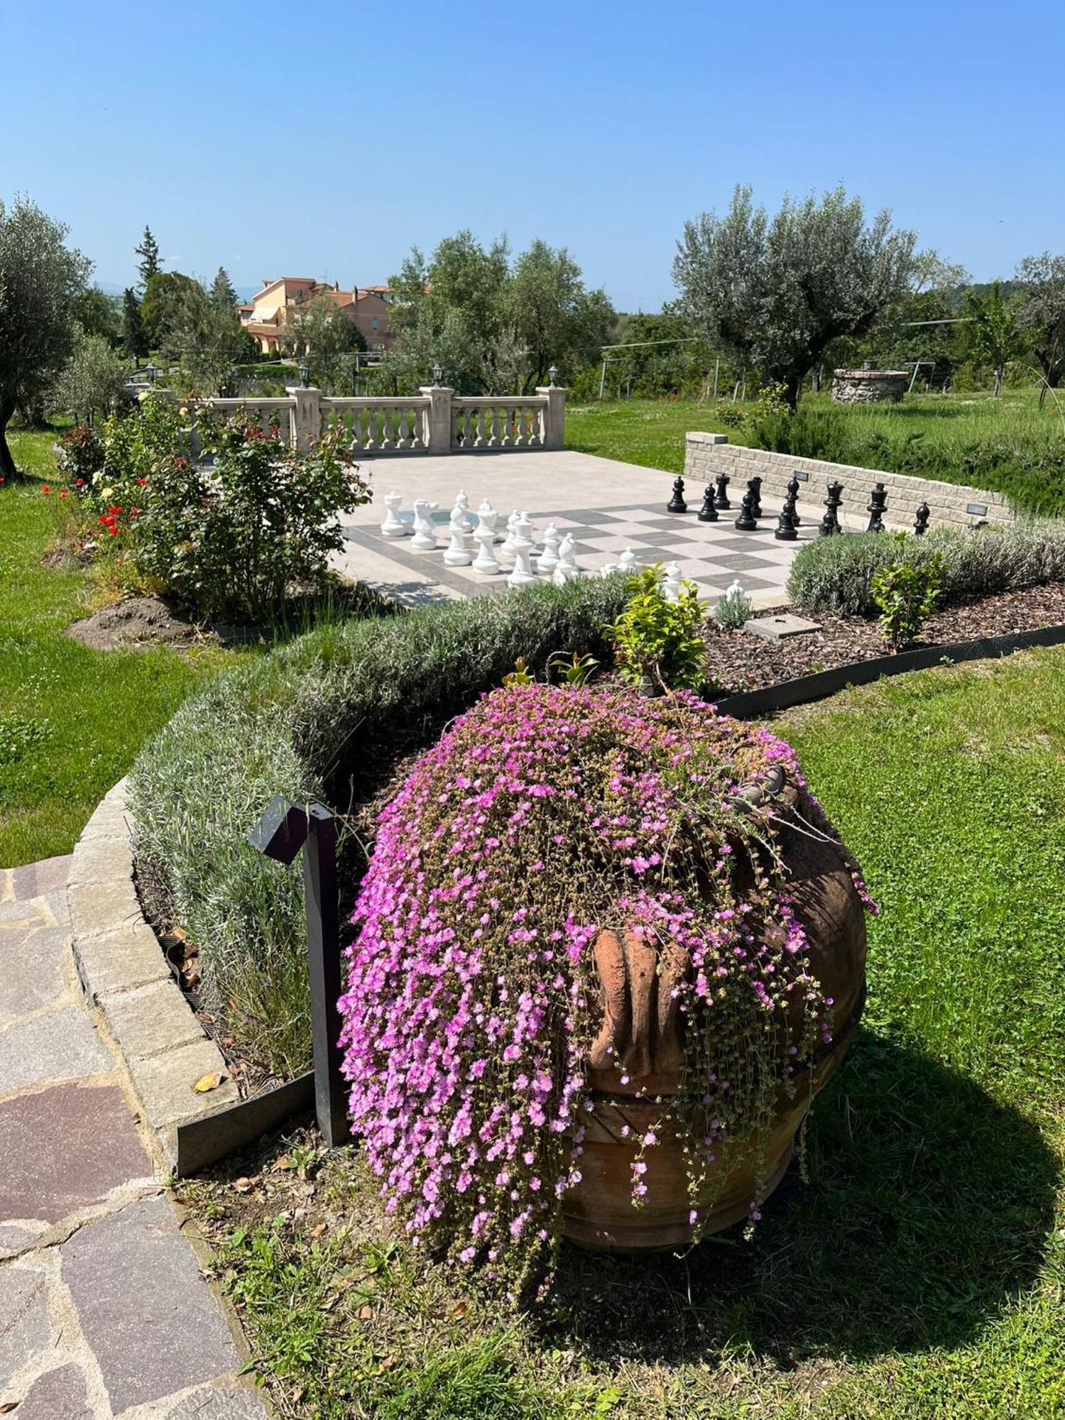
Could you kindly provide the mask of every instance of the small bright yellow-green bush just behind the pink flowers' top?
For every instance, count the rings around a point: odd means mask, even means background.
[[[706,677],[703,606],[694,582],[676,602],[662,589],[662,568],[645,567],[626,582],[628,602],[606,628],[622,679],[643,690],[694,690]]]

